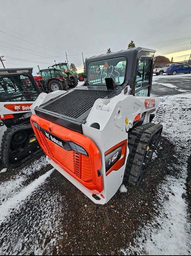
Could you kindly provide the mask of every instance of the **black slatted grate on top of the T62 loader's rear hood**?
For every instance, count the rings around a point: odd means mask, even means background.
[[[110,93],[110,91],[74,90],[42,106],[41,109],[77,119],[92,108],[97,99],[103,99]]]

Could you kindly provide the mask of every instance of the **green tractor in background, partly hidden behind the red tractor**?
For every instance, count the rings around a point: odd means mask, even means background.
[[[71,88],[71,87],[76,87],[78,85],[78,74],[68,69],[67,62],[61,62],[58,64],[55,63],[52,67],[60,69],[62,73],[65,73],[67,75],[66,82],[68,87]]]

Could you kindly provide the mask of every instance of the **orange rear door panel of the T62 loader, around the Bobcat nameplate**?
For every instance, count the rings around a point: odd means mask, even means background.
[[[37,115],[32,115],[30,122],[38,142],[47,156],[63,168],[64,171],[78,180],[83,186],[91,190],[93,194],[100,193],[103,190],[102,176],[98,176],[98,171],[101,168],[101,155],[90,138],[40,118]],[[72,141],[80,145],[87,151],[88,156],[73,150],[65,150],[53,141],[47,139],[46,136],[33,125],[33,122],[38,124],[42,129],[51,131],[53,135],[64,141]]]

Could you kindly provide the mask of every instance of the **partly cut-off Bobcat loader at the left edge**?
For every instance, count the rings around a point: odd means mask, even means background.
[[[1,160],[16,167],[41,148],[30,125],[30,106],[41,93],[33,68],[0,69],[0,147]]]

